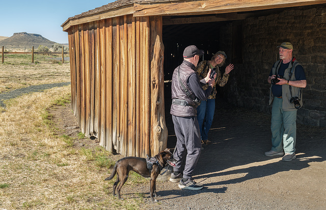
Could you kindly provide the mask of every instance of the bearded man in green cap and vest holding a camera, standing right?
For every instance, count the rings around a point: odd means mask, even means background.
[[[267,79],[271,84],[269,105],[273,103],[272,146],[264,155],[284,155],[282,161],[291,161],[296,158],[296,111],[302,106],[302,88],[306,87],[307,80],[302,65],[292,57],[292,44],[283,42],[278,47],[280,60],[274,63]]]

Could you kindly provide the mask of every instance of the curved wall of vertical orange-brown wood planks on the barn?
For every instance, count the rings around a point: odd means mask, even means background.
[[[68,29],[71,107],[86,136],[124,156],[166,147],[162,18],[125,15]]]

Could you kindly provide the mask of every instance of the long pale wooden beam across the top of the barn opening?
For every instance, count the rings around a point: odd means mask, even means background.
[[[201,15],[324,4],[326,0],[206,0],[134,4],[133,16]]]

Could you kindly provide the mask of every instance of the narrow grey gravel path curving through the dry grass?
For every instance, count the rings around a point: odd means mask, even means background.
[[[69,84],[70,84],[70,82],[31,85],[29,87],[14,89],[13,91],[1,93],[0,94],[0,106],[6,107],[6,105],[3,102],[4,100],[13,99],[13,98],[16,98],[17,96],[21,96],[23,94],[28,94],[28,93],[33,93],[33,92],[41,92],[41,91],[44,91],[44,89],[50,89],[52,87],[62,87],[62,86],[69,85]]]

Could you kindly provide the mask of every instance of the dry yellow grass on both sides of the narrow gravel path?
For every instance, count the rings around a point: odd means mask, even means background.
[[[25,75],[28,84],[46,83],[46,75],[53,72],[57,74],[48,81],[69,81],[69,64],[62,68],[57,64],[38,65],[26,65],[22,70],[23,65],[0,64],[2,84],[24,86],[18,74]],[[53,131],[58,128],[48,121],[46,109],[69,94],[70,86],[51,88],[7,101],[6,110],[0,110],[0,209],[144,206],[142,198],[118,200],[111,195],[114,181],[103,182],[107,168],[114,163],[110,153],[100,146],[95,151],[73,148],[73,139],[55,135]],[[132,177],[137,177],[137,182]],[[144,183],[148,185],[148,179],[132,175],[125,186]]]

